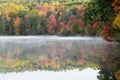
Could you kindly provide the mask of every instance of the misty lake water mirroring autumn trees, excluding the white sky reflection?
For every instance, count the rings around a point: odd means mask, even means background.
[[[99,69],[99,78],[115,80],[120,44],[99,37],[0,37],[1,73],[87,68]]]

